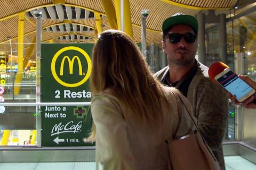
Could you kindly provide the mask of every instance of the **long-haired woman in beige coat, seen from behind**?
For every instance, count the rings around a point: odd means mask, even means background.
[[[138,46],[118,30],[94,45],[90,86],[97,160],[103,169],[167,169],[166,139],[193,132],[189,101],[150,72]],[[177,98],[175,98],[175,96]],[[179,113],[178,113],[178,108]]]

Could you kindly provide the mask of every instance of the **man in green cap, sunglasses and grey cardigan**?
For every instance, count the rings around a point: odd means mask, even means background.
[[[222,139],[228,119],[228,98],[208,75],[208,67],[196,60],[198,22],[181,13],[167,18],[162,25],[163,53],[168,66],[155,73],[165,86],[175,87],[188,98],[204,139],[225,169]]]

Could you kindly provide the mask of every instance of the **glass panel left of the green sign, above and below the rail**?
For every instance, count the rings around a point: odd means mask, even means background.
[[[33,44],[23,44],[23,56],[20,59],[18,44],[0,44],[0,102],[36,101],[35,49],[29,53],[30,47]],[[35,145],[35,130],[35,106],[0,106],[0,145]]]

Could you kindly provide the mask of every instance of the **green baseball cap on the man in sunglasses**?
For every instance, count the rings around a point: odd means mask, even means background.
[[[171,17],[167,18],[163,22],[162,31],[166,31],[167,29],[171,28],[177,24],[186,24],[189,25],[194,30],[198,31],[198,22],[194,16],[185,15],[182,13],[176,13]]]

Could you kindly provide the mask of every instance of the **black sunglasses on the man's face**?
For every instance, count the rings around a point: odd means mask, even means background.
[[[185,34],[181,33],[167,33],[170,43],[178,43],[183,37],[187,43],[194,43],[197,38],[197,33],[188,32]],[[166,37],[167,38],[167,37]],[[165,39],[166,39],[165,38]]]

